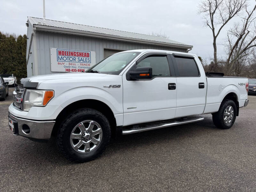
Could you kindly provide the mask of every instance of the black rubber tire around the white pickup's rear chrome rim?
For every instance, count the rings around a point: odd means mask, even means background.
[[[224,121],[224,112],[228,106],[232,106],[234,110],[233,119],[230,123]],[[233,100],[223,100],[220,104],[219,111],[212,114],[213,124],[220,129],[229,129],[236,121],[236,103]]]

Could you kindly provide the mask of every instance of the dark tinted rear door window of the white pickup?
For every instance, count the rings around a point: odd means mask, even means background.
[[[175,57],[180,76],[199,76],[194,59]]]

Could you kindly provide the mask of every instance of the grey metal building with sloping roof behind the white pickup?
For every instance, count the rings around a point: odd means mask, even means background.
[[[65,56],[68,55],[67,57],[70,56],[69,54],[75,54],[76,50],[79,50],[77,53],[85,53],[85,57],[89,52],[89,56],[92,57],[89,61],[93,60],[93,65],[113,53],[125,50],[160,49],[188,52],[193,47],[163,37],[55,20],[45,20],[44,23],[43,19],[35,17],[28,17],[26,25],[28,27],[26,55],[28,76],[63,72],[55,69],[54,66],[65,63],[58,62],[60,59],[58,50],[64,50],[62,53],[65,53]],[[53,57],[53,53],[56,53],[56,48],[58,59],[55,62],[51,56]],[[69,50],[72,52],[70,53]]]

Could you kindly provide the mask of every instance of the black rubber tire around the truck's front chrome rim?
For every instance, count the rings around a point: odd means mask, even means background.
[[[102,138],[100,144],[88,153],[77,152],[70,144],[70,135],[74,127],[85,120],[92,120],[100,124]],[[82,108],[72,112],[60,125],[57,134],[57,146],[60,152],[70,161],[82,163],[91,161],[102,154],[111,137],[110,124],[106,116],[92,108]]]

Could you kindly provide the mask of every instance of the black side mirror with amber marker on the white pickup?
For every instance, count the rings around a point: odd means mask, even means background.
[[[131,80],[151,79],[152,67],[138,67],[135,71],[130,71]]]

